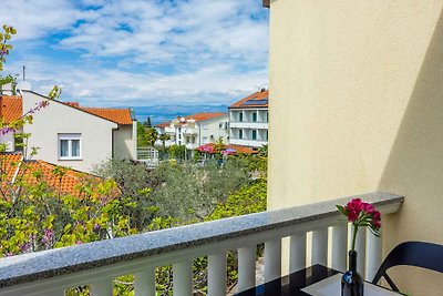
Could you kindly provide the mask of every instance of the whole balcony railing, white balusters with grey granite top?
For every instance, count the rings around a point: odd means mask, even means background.
[[[383,214],[395,213],[403,201],[388,193],[359,196]],[[2,258],[0,295],[62,296],[68,288],[89,285],[91,295],[110,296],[115,277],[134,274],[134,295],[154,296],[155,267],[173,264],[174,295],[190,296],[192,262],[202,256],[208,256],[208,295],[225,295],[227,251],[238,249],[238,289],[245,290],[256,284],[259,243],[265,243],[265,280],[280,277],[284,237],[290,237],[290,272],[303,268],[307,259],[344,271],[348,229],[336,204],[350,198]],[[371,278],[381,261],[381,239],[360,233],[358,266]]]

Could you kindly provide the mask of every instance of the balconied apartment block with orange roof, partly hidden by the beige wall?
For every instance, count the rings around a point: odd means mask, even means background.
[[[268,96],[269,91],[261,90],[229,106],[229,144],[268,144]]]

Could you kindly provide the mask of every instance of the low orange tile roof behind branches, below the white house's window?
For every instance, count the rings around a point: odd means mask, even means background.
[[[24,161],[20,163],[21,161],[21,154],[0,154],[0,170],[1,174],[4,176],[0,183],[2,187],[6,186],[4,182],[10,183],[13,180],[17,180],[17,177],[22,178],[28,182],[28,184],[34,184],[37,183],[34,173],[41,172],[43,180],[51,187],[60,190],[62,193],[80,196],[81,193],[78,188],[79,185],[86,181],[94,183],[103,181],[101,177],[68,169],[60,182],[60,180],[52,173],[56,165],[42,160]]]

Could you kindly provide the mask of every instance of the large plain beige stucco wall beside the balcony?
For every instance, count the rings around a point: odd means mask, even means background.
[[[269,208],[389,191],[405,203],[383,217],[384,252],[408,239],[443,244],[442,8],[271,1]],[[422,279],[396,282],[437,295],[441,277],[427,290]]]

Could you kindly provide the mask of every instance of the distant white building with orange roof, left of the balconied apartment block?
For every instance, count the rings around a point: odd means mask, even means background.
[[[168,134],[165,146],[185,145],[187,149],[197,149],[199,145],[215,143],[219,140],[228,143],[227,113],[197,113],[178,116],[171,122],[155,125],[158,134]],[[162,141],[157,140],[157,145]]]

